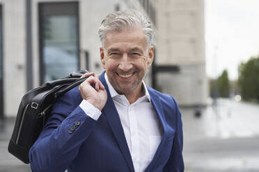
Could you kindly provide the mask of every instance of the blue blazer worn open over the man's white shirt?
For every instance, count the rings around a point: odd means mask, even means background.
[[[100,80],[107,90],[107,103],[95,121],[81,110],[78,87],[54,104],[40,137],[31,147],[29,159],[35,171],[133,172],[130,150],[116,107],[109,94],[104,73]],[[163,135],[146,172],[184,171],[182,120],[174,98],[148,87]],[[143,121],[144,122],[144,121]]]

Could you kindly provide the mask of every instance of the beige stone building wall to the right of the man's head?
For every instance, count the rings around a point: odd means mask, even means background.
[[[203,0],[155,1],[157,65],[176,65],[178,73],[159,74],[162,92],[180,105],[205,105],[205,33]]]

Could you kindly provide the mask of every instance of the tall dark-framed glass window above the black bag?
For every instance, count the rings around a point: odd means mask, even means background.
[[[79,70],[78,3],[40,3],[41,83]]]

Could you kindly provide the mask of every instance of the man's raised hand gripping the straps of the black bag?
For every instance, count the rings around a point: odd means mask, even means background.
[[[104,85],[102,85],[99,80],[99,76],[94,76],[94,74],[91,73],[84,74],[84,76],[89,77],[79,85],[81,97],[102,111],[107,102],[107,92]],[[84,76],[82,76],[82,78]],[[94,87],[91,85],[94,85]]]

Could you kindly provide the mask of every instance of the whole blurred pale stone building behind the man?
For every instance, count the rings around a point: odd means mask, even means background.
[[[203,103],[203,1],[0,0],[0,117],[15,117],[22,96],[47,80],[83,68],[100,74],[100,22],[129,8],[146,12],[157,27],[157,65],[179,68],[158,71],[159,88],[182,104]]]

